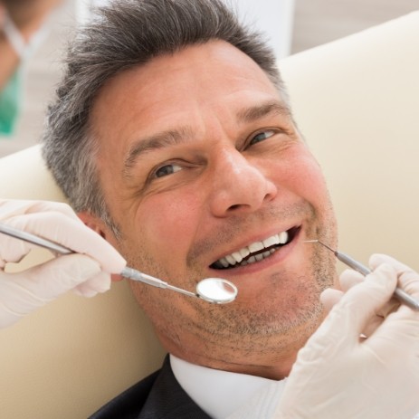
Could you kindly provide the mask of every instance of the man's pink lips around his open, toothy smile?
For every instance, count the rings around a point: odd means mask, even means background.
[[[276,252],[271,254],[270,257],[268,257],[266,259],[263,259],[260,262],[249,263],[245,266],[237,266],[237,267],[234,267],[234,268],[231,268],[231,269],[220,269],[220,270],[210,268],[210,270],[212,272],[217,272],[215,276],[233,277],[233,276],[236,276],[236,275],[243,275],[243,274],[247,274],[247,273],[260,272],[264,269],[267,269],[267,268],[271,267],[272,265],[276,265],[277,263],[281,263],[283,260],[285,260],[287,258],[287,256],[290,254],[290,252],[292,252],[293,248],[299,242],[300,233],[301,233],[301,229],[302,229],[301,224],[294,224],[294,225],[290,226],[289,228],[286,228],[285,230],[278,230],[278,229],[274,230],[271,233],[267,233],[267,234],[263,235],[262,238],[259,235],[258,238],[254,239],[254,240],[251,240],[251,241],[247,241],[246,244],[243,244],[242,247],[238,248],[238,249],[242,249],[244,246],[248,245],[249,243],[262,242],[262,240],[264,240],[266,237],[270,237],[270,235],[272,235],[272,234],[275,234],[275,233],[278,233],[278,232],[281,232],[281,231],[289,231],[290,229],[295,229],[295,234],[294,234],[294,237],[293,237],[292,241],[290,243],[282,246],[279,250],[277,250]],[[224,255],[225,254],[230,254],[230,253],[224,253]],[[220,259],[224,255],[220,256],[218,259]],[[212,273],[212,274],[214,274],[214,273]]]

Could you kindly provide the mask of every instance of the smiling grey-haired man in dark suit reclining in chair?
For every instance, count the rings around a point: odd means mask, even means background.
[[[84,223],[178,287],[219,276],[239,288],[210,306],[133,284],[170,360],[93,417],[244,417],[271,388],[277,402],[338,283],[333,256],[304,243],[336,245],[336,223],[270,50],[217,1],[122,1],[76,40],[57,93],[43,154]],[[206,393],[232,375],[214,403]],[[278,417],[322,417],[312,400],[293,414],[304,397],[289,388]]]

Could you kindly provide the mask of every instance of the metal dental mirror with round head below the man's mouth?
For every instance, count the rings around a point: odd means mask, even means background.
[[[61,244],[53,243],[50,240],[43,239],[42,237],[32,233],[24,232],[10,225],[0,223],[0,233],[5,233],[16,239],[23,240],[24,242],[36,244],[52,252],[57,252],[60,254],[74,253],[71,249],[62,246]],[[196,284],[196,292],[191,292],[177,288],[174,285],[170,285],[165,281],[148,275],[147,273],[129,268],[129,266],[126,266],[121,272],[119,272],[119,275],[133,281],[140,281],[157,288],[173,290],[181,294],[199,298],[214,304],[225,304],[232,302],[237,297],[237,287],[233,284],[233,282],[224,280],[223,278],[205,278]]]

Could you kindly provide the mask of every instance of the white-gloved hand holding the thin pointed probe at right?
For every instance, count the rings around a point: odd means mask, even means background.
[[[397,279],[418,298],[419,274],[384,255],[370,265],[365,281],[355,271],[344,273],[349,290],[300,349],[275,418],[413,419],[419,413],[419,312],[391,299]],[[371,334],[360,338],[366,329]]]

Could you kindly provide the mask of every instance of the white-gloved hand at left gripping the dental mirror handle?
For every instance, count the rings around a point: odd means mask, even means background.
[[[0,328],[68,290],[85,297],[109,290],[110,273],[119,273],[125,267],[119,252],[86,227],[69,205],[0,200],[0,223],[77,252],[60,255],[26,271],[6,273],[7,262],[19,262],[37,246],[0,233]]]

